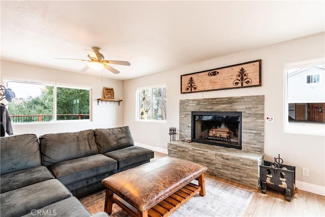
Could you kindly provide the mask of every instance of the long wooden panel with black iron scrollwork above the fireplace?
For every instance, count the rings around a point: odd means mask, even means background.
[[[181,75],[181,94],[261,86],[262,60]]]

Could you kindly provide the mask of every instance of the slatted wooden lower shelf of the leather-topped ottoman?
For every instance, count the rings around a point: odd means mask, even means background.
[[[179,206],[184,204],[188,199],[201,191],[201,186],[193,183],[188,183],[183,188],[170,195],[166,199],[160,201],[148,210],[148,216],[168,216],[174,212]],[[138,216],[138,210],[132,205],[125,202],[118,196],[113,197],[113,203],[116,203],[124,211],[131,216]]]

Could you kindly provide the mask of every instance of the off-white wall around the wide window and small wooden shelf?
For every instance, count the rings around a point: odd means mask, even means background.
[[[24,124],[13,126],[14,134],[32,133],[37,136],[47,133],[75,132],[95,128],[112,128],[123,126],[123,102],[118,104],[99,103],[98,98],[104,98],[104,87],[114,88],[115,99],[123,98],[123,81],[91,76],[88,74],[59,71],[26,64],[1,60],[1,79],[3,77],[18,77],[34,80],[52,81],[77,85],[92,86],[92,121]],[[28,91],[28,90],[26,90]],[[18,96],[16,96],[18,97]]]

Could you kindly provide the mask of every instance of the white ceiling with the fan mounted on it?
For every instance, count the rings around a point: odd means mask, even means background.
[[[1,1],[1,59],[131,79],[324,32],[324,1]]]

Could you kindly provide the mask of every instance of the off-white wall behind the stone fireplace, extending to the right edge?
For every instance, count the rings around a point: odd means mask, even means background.
[[[169,141],[169,127],[178,128],[179,126],[179,100],[265,95],[265,116],[275,118],[274,123],[265,124],[265,160],[273,161],[274,157],[280,154],[284,164],[296,166],[296,180],[317,185],[323,191],[325,185],[324,136],[289,134],[283,131],[283,65],[324,57],[324,37],[324,34],[317,34],[124,81],[124,125],[131,128],[135,142],[166,149],[165,142]],[[180,94],[180,75],[182,74],[256,59],[262,59],[261,87]],[[167,123],[136,121],[136,88],[161,83],[167,83]],[[309,169],[309,177],[302,176],[302,168]]]

